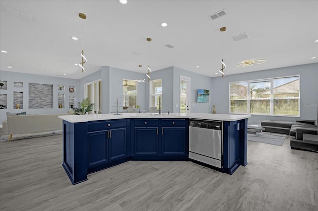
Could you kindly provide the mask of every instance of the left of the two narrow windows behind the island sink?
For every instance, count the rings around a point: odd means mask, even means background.
[[[137,106],[137,82],[123,79],[123,109]]]

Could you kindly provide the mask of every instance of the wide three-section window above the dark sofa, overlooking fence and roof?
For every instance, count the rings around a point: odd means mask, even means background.
[[[299,116],[299,75],[230,83],[230,113]]]

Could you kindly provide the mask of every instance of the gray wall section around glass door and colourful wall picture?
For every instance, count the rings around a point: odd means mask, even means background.
[[[173,112],[180,112],[179,106],[181,75],[190,78],[191,113],[212,113],[212,105],[214,105],[215,101],[214,98],[211,96],[211,93],[214,91],[212,88],[212,78],[177,67],[173,67]],[[198,89],[210,90],[210,99],[208,103],[197,103],[196,97]]]

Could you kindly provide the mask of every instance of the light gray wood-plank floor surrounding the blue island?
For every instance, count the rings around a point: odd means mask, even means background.
[[[228,175],[190,161],[129,161],[72,185],[62,135],[0,142],[1,211],[317,211],[318,153],[248,141]]]

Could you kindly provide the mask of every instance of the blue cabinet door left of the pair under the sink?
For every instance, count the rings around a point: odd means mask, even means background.
[[[135,127],[135,155],[159,155],[158,127]]]

